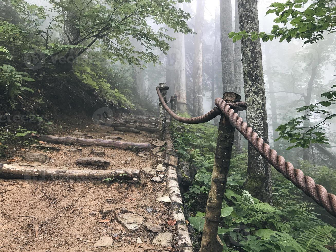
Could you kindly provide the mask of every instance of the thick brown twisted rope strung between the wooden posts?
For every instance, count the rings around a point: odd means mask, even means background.
[[[317,204],[336,217],[336,196],[328,193],[324,186],[315,184],[315,181],[311,177],[305,176],[300,169],[295,169],[292,163],[286,162],[284,157],[278,155],[277,151],[271,149],[269,144],[264,143],[264,140],[261,137],[258,137],[258,134],[254,132],[251,127],[248,127],[246,122],[243,122],[243,118],[235,113],[234,110],[237,109],[245,110],[247,108],[246,102],[226,103],[222,98],[217,98],[215,100],[215,105],[217,107],[207,114],[199,117],[185,118],[180,117],[171,111],[163,102],[159,87],[157,87],[156,90],[159,99],[164,104],[165,110],[172,118],[179,122],[194,124],[205,123],[216,116],[223,114],[270,165],[302,190],[307,196],[312,198]]]

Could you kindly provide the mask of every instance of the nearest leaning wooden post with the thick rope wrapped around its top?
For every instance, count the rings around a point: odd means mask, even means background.
[[[223,100],[226,102],[239,102],[240,98],[240,95],[233,92],[225,92],[223,94]],[[235,128],[230,124],[227,118],[221,115],[212,170],[211,188],[205,209],[201,252],[222,252],[223,250],[223,244],[217,237],[217,230],[230,166],[234,135]]]

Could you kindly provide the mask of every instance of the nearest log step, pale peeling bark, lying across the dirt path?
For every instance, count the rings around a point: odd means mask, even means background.
[[[6,179],[95,179],[119,178],[140,180],[140,170],[90,170],[90,169],[60,169],[48,166],[23,167],[0,164],[0,177]]]

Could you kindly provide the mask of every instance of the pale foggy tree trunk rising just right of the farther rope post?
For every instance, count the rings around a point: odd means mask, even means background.
[[[183,9],[183,4],[178,3],[176,8]],[[184,34],[175,33],[176,40],[174,41],[174,51],[176,53],[175,69],[175,94],[177,97],[177,110],[181,113],[187,112],[187,95],[185,86],[185,47]]]

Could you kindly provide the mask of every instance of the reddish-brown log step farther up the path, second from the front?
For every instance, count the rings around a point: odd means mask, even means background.
[[[51,136],[42,135],[39,140],[51,143],[69,143],[69,144],[80,144],[80,145],[98,145],[106,147],[117,147],[121,149],[151,149],[151,144],[149,143],[135,143],[135,142],[121,142],[114,140],[104,140],[104,139],[88,139],[88,138],[78,138],[72,136]]]

